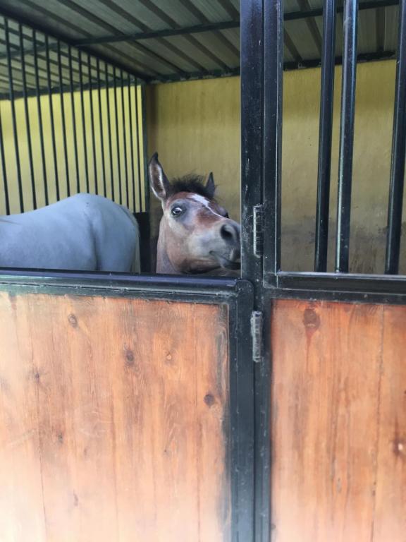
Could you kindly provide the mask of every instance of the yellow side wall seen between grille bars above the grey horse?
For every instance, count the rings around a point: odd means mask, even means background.
[[[113,184],[114,184],[114,199],[119,200],[119,176],[118,176],[118,153],[117,153],[117,138],[116,138],[116,124],[115,124],[115,109],[114,109],[114,90],[109,90],[110,97],[110,117],[111,117],[111,143],[112,143],[112,156],[113,156]],[[85,177],[85,152],[84,152],[84,139],[82,130],[82,114],[80,108],[80,93],[75,92],[75,121],[78,138],[78,164],[79,164],[79,179],[80,179],[80,191],[87,191],[86,177]],[[76,167],[75,167],[75,154],[73,146],[73,115],[70,101],[70,94],[67,92],[63,97],[63,104],[65,107],[66,117],[66,138],[68,148],[68,170],[69,170],[69,185],[70,193],[76,193]],[[86,141],[87,141],[87,164],[89,171],[90,192],[95,191],[95,182],[99,188],[99,193],[103,193],[103,174],[102,174],[102,160],[101,160],[101,128],[99,124],[99,97],[97,90],[92,91],[93,111],[94,111],[94,133],[95,133],[95,154],[96,154],[96,171],[94,171],[94,159],[93,159],[93,146],[92,146],[92,128],[91,128],[91,114],[90,114],[90,92],[84,92],[84,104],[85,104],[85,127],[86,127]],[[141,112],[141,89],[137,89],[137,100],[139,105],[139,111]],[[31,176],[30,176],[30,163],[28,159],[28,140],[27,140],[27,128],[25,123],[25,110],[23,99],[18,99],[16,104],[16,124],[18,130],[18,146],[20,152],[20,164],[21,164],[21,176],[23,179],[23,193],[24,193],[24,207],[25,210],[32,209],[32,189],[31,189]],[[65,157],[63,152],[63,129],[62,129],[62,115],[61,115],[61,97],[59,94],[52,96],[52,104],[54,109],[54,122],[55,122],[55,139],[56,139],[56,152],[57,152],[57,168],[59,173],[59,186],[60,197],[64,198],[67,195],[67,180],[66,180],[66,167]],[[51,138],[51,114],[49,107],[49,97],[41,97],[42,107],[42,124],[44,128],[44,147],[46,152],[46,167],[47,167],[47,185],[49,189],[49,203],[56,201],[56,183],[55,183],[55,168],[54,168],[54,156],[52,151],[52,138]],[[123,195],[123,203],[126,203],[126,179],[125,179],[125,155],[124,155],[124,142],[123,142],[123,123],[121,117],[121,91],[117,91],[117,107],[118,107],[118,143],[120,146],[120,167],[121,167],[121,188]],[[42,159],[41,159],[41,146],[39,138],[39,116],[37,113],[37,98],[31,97],[28,99],[29,119],[30,119],[30,132],[32,134],[32,154],[34,163],[35,174],[35,187],[37,193],[37,206],[41,207],[45,205],[44,197],[44,179],[42,173]],[[133,191],[131,188],[132,183],[132,164],[130,154],[130,110],[128,101],[128,90],[124,91],[124,111],[126,121],[126,149],[127,149],[127,165],[128,165],[128,179],[130,184],[129,189],[129,207],[134,209],[139,207],[138,191],[135,191],[135,205],[133,201]],[[103,124],[103,139],[104,139],[104,157],[106,168],[106,186],[107,197],[111,198],[111,167],[109,159],[109,131],[108,131],[108,116],[107,116],[107,99],[106,91],[101,90],[101,112],[102,112],[102,124]],[[131,113],[133,123],[133,142],[134,142],[134,171],[135,181],[137,183],[137,152],[136,141],[137,131],[136,117],[135,117],[135,93],[131,92]],[[14,146],[13,138],[13,122],[11,116],[11,102],[9,100],[0,101],[0,115],[3,131],[4,150],[6,155],[6,174],[8,180],[8,191],[10,193],[11,212],[19,212],[20,205],[18,200],[18,183],[17,183],[17,162],[16,162],[16,150]],[[139,130],[140,135],[140,171],[144,171],[143,167],[143,148],[142,148],[142,119],[140,114]],[[142,200],[144,200],[144,180],[142,175]],[[4,199],[4,179],[0,168],[0,214],[6,213],[6,205]]]

